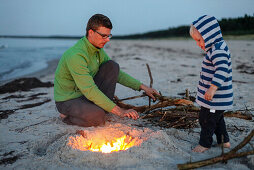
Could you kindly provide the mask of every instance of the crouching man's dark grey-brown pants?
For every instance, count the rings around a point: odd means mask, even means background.
[[[98,88],[113,99],[119,74],[119,65],[110,60],[102,64],[94,77]],[[98,126],[105,123],[106,111],[89,101],[85,96],[63,102],[56,102],[57,110],[67,115],[64,122],[78,126]]]

